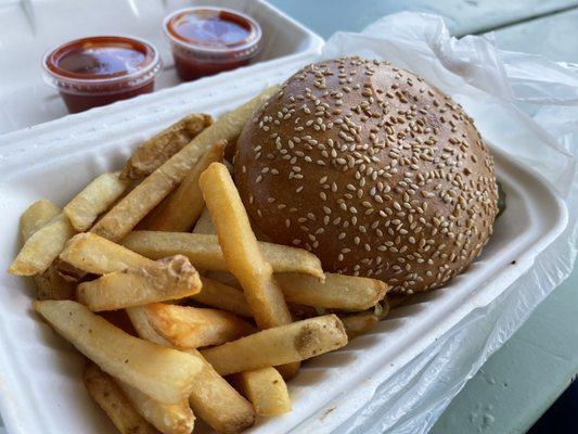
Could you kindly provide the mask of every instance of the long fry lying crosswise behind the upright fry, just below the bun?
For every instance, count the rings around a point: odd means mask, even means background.
[[[214,234],[133,231],[123,240],[123,245],[151,259],[184,255],[200,269],[228,270],[219,239]],[[275,272],[301,272],[324,279],[321,261],[312,253],[262,241],[257,242],[257,245]]]

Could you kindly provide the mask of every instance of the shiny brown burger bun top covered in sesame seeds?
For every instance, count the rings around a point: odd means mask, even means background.
[[[273,242],[400,293],[467,267],[497,214],[493,161],[472,119],[382,61],[337,59],[295,74],[245,126],[234,170]]]

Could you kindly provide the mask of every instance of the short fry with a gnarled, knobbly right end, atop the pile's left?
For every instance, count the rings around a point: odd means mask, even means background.
[[[76,289],[76,298],[92,311],[116,310],[183,298],[201,291],[198,272],[184,256],[113,271]]]

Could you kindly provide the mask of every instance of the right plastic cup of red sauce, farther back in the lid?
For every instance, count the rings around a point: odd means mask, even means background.
[[[163,27],[177,73],[187,81],[247,65],[260,50],[259,24],[228,9],[183,9],[167,16]]]

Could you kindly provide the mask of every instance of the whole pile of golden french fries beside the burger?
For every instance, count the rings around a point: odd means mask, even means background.
[[[195,414],[237,433],[287,412],[303,360],[387,314],[384,282],[257,240],[222,158],[274,92],[215,123],[190,115],[62,209],[22,216],[9,272],[35,279],[34,308],[87,357],[86,387],[120,433],[191,433]]]

